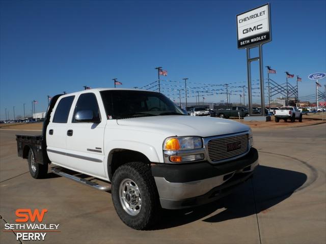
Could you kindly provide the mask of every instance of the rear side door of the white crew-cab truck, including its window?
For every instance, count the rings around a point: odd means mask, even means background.
[[[70,108],[75,96],[61,97],[51,113],[49,125],[46,130],[47,155],[52,163],[66,166],[66,135]]]

